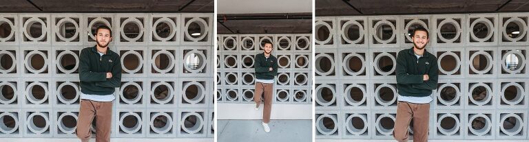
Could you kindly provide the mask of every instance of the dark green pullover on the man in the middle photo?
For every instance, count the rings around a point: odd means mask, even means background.
[[[257,54],[253,64],[256,69],[256,79],[273,80],[273,77],[278,75],[278,58],[272,55],[266,58],[264,53]],[[269,71],[270,67],[272,67],[272,71]]]

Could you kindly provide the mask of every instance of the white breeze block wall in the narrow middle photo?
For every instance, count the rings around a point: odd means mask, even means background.
[[[311,34],[219,34],[217,102],[254,103],[254,57],[268,40],[279,65],[273,103],[311,104],[311,39]]]

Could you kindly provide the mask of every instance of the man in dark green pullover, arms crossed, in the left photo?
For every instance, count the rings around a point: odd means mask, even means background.
[[[110,141],[113,93],[121,84],[121,60],[108,47],[112,41],[110,27],[97,27],[95,37],[97,44],[81,50],[79,57],[81,107],[76,135],[83,142],[87,142],[92,135],[90,126],[94,119],[96,141]]]

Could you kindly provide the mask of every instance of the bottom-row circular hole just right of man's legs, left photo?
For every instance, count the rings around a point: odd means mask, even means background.
[[[121,113],[119,116],[119,128],[121,131],[127,133],[127,134],[134,134],[138,132],[141,129],[141,117],[138,115],[138,113]]]

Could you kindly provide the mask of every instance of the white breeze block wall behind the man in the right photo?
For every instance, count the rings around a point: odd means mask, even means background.
[[[429,139],[528,139],[528,14],[316,17],[316,138],[393,139],[396,56],[422,26],[440,66]]]

